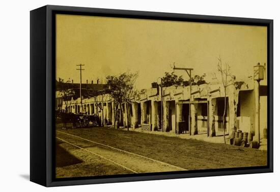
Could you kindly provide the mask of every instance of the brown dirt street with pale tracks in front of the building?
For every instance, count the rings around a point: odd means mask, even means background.
[[[266,151],[108,127],[62,130],[58,126],[57,141],[63,151],[57,151],[57,162],[62,162],[57,167],[59,177],[267,165]],[[71,159],[75,161],[68,165]]]

